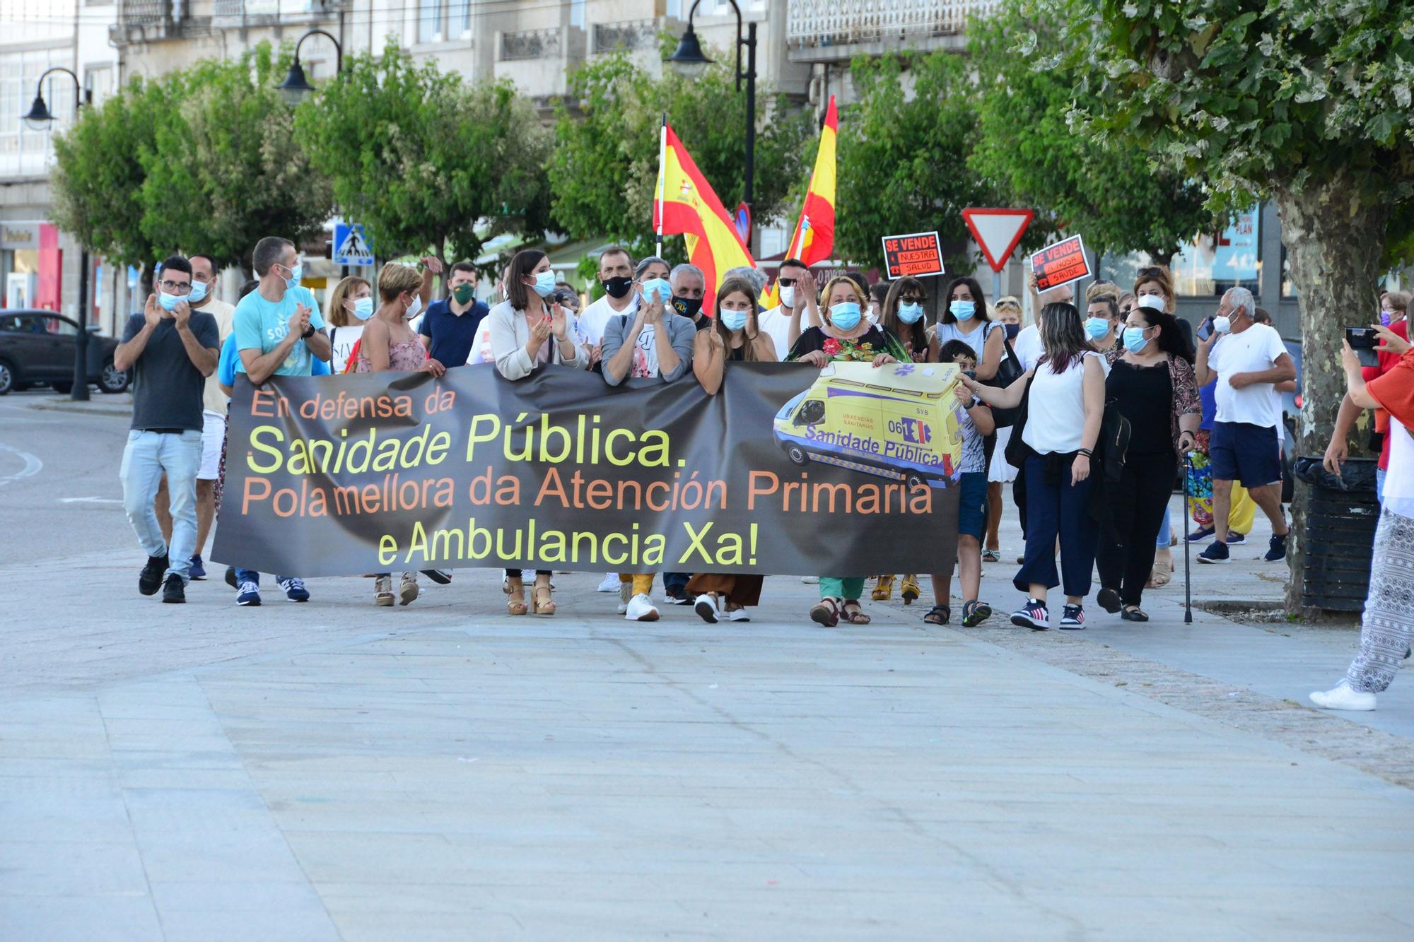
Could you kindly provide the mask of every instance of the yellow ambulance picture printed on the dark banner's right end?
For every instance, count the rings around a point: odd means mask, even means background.
[[[946,488],[957,482],[963,437],[954,364],[836,362],[776,413],[776,441],[806,465]]]

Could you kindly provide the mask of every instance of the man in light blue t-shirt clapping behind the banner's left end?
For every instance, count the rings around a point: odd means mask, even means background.
[[[331,347],[314,294],[300,287],[300,252],[288,239],[266,236],[256,243],[250,262],[260,286],[236,304],[236,372],[246,373],[256,386],[270,376],[312,375],[314,361],[328,362]],[[310,600],[303,578],[276,576],[276,583],[290,601]],[[238,605],[260,604],[260,573],[236,569],[236,586]]]

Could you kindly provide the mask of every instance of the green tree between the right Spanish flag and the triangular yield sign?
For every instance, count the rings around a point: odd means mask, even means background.
[[[840,115],[837,256],[880,259],[881,236],[936,229],[945,252],[963,253],[945,264],[971,267],[962,211],[998,205],[998,191],[970,165],[977,109],[967,69],[946,50],[850,64],[858,102]],[[1035,239],[1036,229],[1027,235]]]

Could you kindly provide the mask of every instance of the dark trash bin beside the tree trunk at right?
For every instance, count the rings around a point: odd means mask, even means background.
[[[1307,550],[1301,570],[1301,604],[1331,611],[1360,611],[1370,590],[1370,549],[1380,521],[1374,499],[1373,458],[1340,463],[1340,477],[1321,458],[1295,461],[1295,477],[1307,482]]]

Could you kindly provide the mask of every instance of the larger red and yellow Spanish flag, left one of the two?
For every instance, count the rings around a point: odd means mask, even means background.
[[[728,269],[755,267],[756,263],[711,184],[666,122],[662,134],[653,228],[660,239],[663,235],[686,238],[687,257],[703,270],[703,280],[707,281],[703,313],[710,317],[715,311],[723,274]]]

